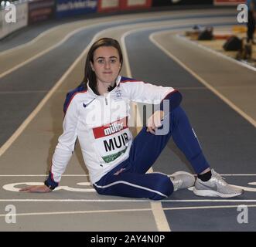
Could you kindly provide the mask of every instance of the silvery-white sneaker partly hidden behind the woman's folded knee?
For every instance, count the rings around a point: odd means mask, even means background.
[[[176,171],[175,173],[169,175],[169,178],[173,184],[173,191],[192,187],[196,181],[193,174],[186,171]]]

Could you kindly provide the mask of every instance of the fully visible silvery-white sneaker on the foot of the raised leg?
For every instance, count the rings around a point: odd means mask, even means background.
[[[212,178],[209,181],[202,181],[200,178],[196,178],[194,194],[199,196],[212,196],[220,198],[233,198],[243,194],[241,188],[236,188],[224,181],[224,178],[217,174],[216,171],[211,169]]]

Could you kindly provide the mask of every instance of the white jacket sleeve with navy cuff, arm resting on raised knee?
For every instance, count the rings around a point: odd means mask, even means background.
[[[170,110],[179,106],[182,95],[178,90],[169,86],[155,86],[142,81],[128,81],[124,83],[125,92],[130,100],[138,103],[160,104],[169,103]]]

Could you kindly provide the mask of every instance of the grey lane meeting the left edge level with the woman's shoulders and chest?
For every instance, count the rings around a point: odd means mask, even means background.
[[[196,18],[199,18],[198,14],[185,15],[185,17],[173,17],[172,15],[167,17],[160,16],[158,22],[161,23],[162,20],[176,20],[176,18],[178,20],[183,18],[186,20],[191,18],[189,16],[193,17],[195,20]],[[200,18],[205,16],[206,15],[202,15]],[[213,19],[218,19],[220,16],[224,15],[215,14],[211,16]],[[229,17],[230,13],[227,13],[227,16]],[[157,18],[147,19],[147,22],[153,22],[156,19]],[[141,19],[139,21],[127,21],[125,24],[143,22],[145,22],[145,20],[143,21]],[[0,134],[0,144],[5,143],[14,130],[22,123],[26,116],[28,116],[28,113],[36,107],[40,100],[42,100],[43,96],[46,95],[47,91],[54,85],[56,80],[63,75],[67,67],[73,63],[73,60],[80,54],[80,52],[88,46],[93,36],[101,30],[118,25],[121,25],[121,23],[99,23],[98,27],[88,27],[88,29],[80,31],[68,39],[62,46],[53,49],[52,52],[46,53],[46,55],[36,59],[35,62],[22,66],[22,68],[17,69],[14,73],[4,76],[1,79],[0,93],[2,94],[2,97],[0,98],[0,110],[4,120],[0,122],[0,128],[5,129],[5,132]],[[14,58],[12,57],[12,59]],[[38,71],[40,71],[43,76],[38,76]],[[47,80],[44,76],[45,74],[47,74]],[[24,81],[22,84],[19,82],[20,78]],[[12,97],[11,95],[15,95],[15,97]],[[9,108],[5,107],[6,104],[9,105]],[[26,110],[20,111],[17,106],[19,105],[19,107],[22,107],[22,104],[24,107],[23,109]],[[10,111],[13,113],[12,115],[9,114]]]

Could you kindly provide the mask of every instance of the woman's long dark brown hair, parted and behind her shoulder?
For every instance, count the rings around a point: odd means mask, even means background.
[[[90,62],[94,63],[94,51],[98,49],[101,46],[112,46],[115,49],[118,50],[119,58],[120,58],[120,63],[121,66],[123,64],[123,55],[121,52],[121,46],[119,45],[119,42],[115,39],[111,38],[101,38],[98,39],[94,44],[90,47],[90,50],[87,54],[87,59],[85,62],[85,67],[84,67],[84,80],[81,83],[84,86],[84,89],[87,90],[87,81],[89,81],[89,86],[90,88],[99,95],[98,90],[97,90],[97,80],[96,80],[96,75],[93,71],[93,69],[90,66]]]

